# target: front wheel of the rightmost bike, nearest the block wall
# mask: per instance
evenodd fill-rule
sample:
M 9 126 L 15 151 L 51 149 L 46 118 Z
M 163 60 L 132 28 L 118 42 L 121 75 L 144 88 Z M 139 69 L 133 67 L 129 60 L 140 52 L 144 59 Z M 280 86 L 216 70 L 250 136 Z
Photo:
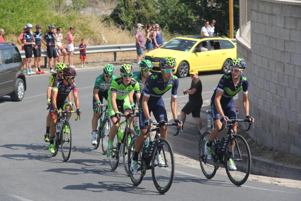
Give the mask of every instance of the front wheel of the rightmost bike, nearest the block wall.
M 236 165 L 236 170 L 230 170 L 227 165 L 228 147 L 231 146 L 229 141 L 225 150 L 225 168 L 230 181 L 235 185 L 244 184 L 250 174 L 251 170 L 251 152 L 247 141 L 240 135 L 234 135 L 233 140 L 235 145 L 233 147 L 234 158 L 232 159 Z

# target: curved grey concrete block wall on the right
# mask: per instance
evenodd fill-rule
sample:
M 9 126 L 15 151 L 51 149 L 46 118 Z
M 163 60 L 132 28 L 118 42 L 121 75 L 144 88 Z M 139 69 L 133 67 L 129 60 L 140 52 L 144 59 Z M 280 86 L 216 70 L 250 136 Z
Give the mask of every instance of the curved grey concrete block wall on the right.
M 250 6 L 251 40 L 236 36 L 237 57 L 247 62 L 250 115 L 256 119 L 249 134 L 301 157 L 301 2 L 252 0 Z M 244 114 L 242 93 L 238 98 Z

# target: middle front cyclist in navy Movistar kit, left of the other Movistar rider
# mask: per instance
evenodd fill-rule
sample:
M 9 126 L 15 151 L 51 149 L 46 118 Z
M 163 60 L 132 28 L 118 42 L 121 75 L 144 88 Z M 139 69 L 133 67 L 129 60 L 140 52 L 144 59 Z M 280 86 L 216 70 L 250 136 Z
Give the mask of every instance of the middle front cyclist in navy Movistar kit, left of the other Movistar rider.
M 146 133 L 147 128 L 150 127 L 151 116 L 150 113 L 153 112 L 153 115 L 157 122 L 166 121 L 167 114 L 165 105 L 162 99 L 162 96 L 166 91 L 171 91 L 171 111 L 172 116 L 175 120 L 175 123 L 178 123 L 178 127 L 182 125 L 181 120 L 178 119 L 177 115 L 177 90 L 179 85 L 179 79 L 173 73 L 175 72 L 175 60 L 171 57 L 163 57 L 160 59 L 159 67 L 160 73 L 153 73 L 146 80 L 146 83 L 142 89 L 141 98 L 139 100 L 139 127 L 140 134 L 136 140 L 135 152 L 131 160 L 131 171 L 132 174 L 137 174 L 137 161 L 138 154 L 142 145 L 148 135 L 144 136 L 143 133 Z M 166 139 L 167 137 L 167 127 L 160 132 L 161 137 Z M 159 163 L 163 163 L 162 158 L 159 154 Z

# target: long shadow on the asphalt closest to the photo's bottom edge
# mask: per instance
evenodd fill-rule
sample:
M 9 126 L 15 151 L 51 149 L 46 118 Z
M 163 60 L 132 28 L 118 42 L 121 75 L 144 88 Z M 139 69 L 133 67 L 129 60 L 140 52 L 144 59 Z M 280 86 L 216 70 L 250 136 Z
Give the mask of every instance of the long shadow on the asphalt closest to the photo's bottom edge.
M 163 195 L 157 191 L 146 190 L 146 188 L 142 188 L 133 184 L 125 183 L 125 182 L 114 182 L 114 181 L 102 181 L 98 182 L 98 184 L 92 183 L 84 183 L 78 185 L 69 185 L 64 187 L 63 189 L 67 190 L 86 190 L 91 192 L 126 192 L 140 195 Z M 118 195 L 118 194 L 117 194 Z

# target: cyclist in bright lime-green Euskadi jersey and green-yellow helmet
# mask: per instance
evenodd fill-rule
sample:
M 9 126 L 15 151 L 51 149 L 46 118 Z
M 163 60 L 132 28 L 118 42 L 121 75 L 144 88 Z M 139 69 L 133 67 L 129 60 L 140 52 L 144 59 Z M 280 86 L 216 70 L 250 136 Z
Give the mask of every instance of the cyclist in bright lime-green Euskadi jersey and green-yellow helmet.
M 109 145 L 107 149 L 107 158 L 113 158 L 113 140 L 116 135 L 116 130 L 119 124 L 120 111 L 127 115 L 132 113 L 131 103 L 129 101 L 129 93 L 134 90 L 137 100 L 140 99 L 140 88 L 136 80 L 132 78 L 133 67 L 129 64 L 122 64 L 120 68 L 121 77 L 116 77 L 111 84 L 111 88 L 108 92 L 108 110 L 109 116 L 112 121 L 112 127 L 110 129 Z M 118 110 L 120 106 L 120 111 Z

